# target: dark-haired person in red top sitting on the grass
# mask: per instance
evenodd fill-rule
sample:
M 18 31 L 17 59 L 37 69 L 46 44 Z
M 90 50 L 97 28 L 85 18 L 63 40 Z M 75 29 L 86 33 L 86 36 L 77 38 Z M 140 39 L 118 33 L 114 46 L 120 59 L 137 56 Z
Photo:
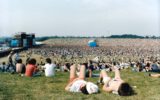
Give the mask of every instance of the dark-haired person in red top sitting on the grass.
M 32 77 L 32 76 L 39 76 L 39 75 L 40 74 L 38 73 L 38 69 L 36 67 L 36 59 L 31 58 L 28 61 L 28 64 L 26 66 L 25 76 Z

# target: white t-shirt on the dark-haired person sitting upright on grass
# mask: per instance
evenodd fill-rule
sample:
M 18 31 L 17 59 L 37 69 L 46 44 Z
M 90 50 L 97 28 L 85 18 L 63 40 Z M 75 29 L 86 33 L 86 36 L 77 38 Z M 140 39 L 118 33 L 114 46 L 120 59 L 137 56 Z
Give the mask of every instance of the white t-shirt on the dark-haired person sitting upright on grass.
M 48 64 L 47 63 L 43 67 L 45 68 L 45 76 L 48 76 L 48 77 L 54 76 L 54 74 L 55 74 L 55 67 L 56 67 L 55 64 Z

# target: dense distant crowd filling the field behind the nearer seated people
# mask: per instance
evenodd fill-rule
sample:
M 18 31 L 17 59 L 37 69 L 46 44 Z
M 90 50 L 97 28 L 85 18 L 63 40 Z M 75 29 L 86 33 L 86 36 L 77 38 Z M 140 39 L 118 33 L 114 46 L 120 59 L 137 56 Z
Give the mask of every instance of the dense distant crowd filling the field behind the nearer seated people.
M 84 40 L 86 41 L 86 40 Z M 48 44 L 41 48 L 30 49 L 28 52 L 41 55 L 42 57 L 53 57 L 56 62 L 82 63 L 99 57 L 100 62 L 141 62 L 144 60 L 160 61 L 160 43 L 158 40 L 129 40 L 129 39 L 108 39 L 97 40 L 99 47 L 90 48 L 84 43 L 75 40 L 65 41 L 54 45 Z M 66 44 L 66 45 L 64 45 Z

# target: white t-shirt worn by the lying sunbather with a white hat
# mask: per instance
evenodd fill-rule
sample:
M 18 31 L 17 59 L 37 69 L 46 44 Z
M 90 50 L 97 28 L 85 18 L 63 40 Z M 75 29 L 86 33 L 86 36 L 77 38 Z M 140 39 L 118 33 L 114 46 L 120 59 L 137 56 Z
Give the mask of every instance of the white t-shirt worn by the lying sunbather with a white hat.
M 80 87 L 82 84 L 86 84 L 87 82 L 84 80 L 77 80 L 75 81 L 72 86 L 70 87 L 70 92 L 81 92 Z

